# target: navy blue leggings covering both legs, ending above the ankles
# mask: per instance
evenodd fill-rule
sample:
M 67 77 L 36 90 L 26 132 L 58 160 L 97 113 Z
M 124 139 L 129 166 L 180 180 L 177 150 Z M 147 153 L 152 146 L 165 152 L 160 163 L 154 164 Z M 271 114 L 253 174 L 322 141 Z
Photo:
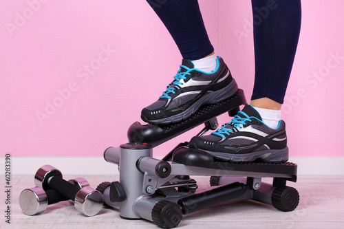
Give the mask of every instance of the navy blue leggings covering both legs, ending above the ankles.
M 251 0 L 255 45 L 252 100 L 283 103 L 301 28 L 300 0 Z M 169 30 L 183 58 L 214 51 L 197 0 L 147 0 Z

